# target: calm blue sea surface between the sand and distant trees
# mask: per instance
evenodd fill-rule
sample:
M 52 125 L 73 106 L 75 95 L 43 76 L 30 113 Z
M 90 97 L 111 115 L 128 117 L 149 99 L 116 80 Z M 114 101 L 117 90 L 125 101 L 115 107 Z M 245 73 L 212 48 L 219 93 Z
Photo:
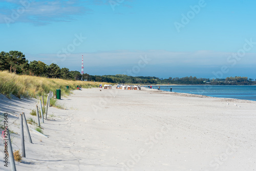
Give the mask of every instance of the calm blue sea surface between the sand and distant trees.
M 256 86 L 160 86 L 160 90 L 256 101 Z M 152 86 L 158 89 L 158 86 Z

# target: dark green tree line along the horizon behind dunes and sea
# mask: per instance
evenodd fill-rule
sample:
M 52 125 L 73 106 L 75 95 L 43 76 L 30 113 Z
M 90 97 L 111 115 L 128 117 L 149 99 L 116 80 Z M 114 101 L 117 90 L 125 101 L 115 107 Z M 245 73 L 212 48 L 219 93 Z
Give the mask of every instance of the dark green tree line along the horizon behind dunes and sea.
M 111 83 L 131 83 L 131 84 L 213 84 L 213 85 L 252 85 L 256 84 L 247 77 L 227 77 L 226 79 L 216 78 L 197 78 L 197 77 L 169 77 L 166 79 L 150 76 L 127 76 L 127 75 L 89 75 L 81 74 L 78 71 L 69 71 L 68 68 L 60 68 L 57 64 L 51 63 L 46 65 L 42 61 L 28 61 L 25 55 L 19 51 L 1 52 L 0 53 L 0 70 L 9 70 L 15 74 L 26 74 L 32 76 L 74 79 L 74 80 L 88 80 L 98 82 Z

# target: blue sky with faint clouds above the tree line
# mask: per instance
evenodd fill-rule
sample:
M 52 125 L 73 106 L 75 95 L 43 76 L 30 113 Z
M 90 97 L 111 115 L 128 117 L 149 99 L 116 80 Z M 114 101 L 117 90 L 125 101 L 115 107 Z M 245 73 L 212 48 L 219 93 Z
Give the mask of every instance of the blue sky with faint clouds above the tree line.
M 83 55 L 91 75 L 256 79 L 255 6 L 253 0 L 0 0 L 0 51 L 77 71 Z

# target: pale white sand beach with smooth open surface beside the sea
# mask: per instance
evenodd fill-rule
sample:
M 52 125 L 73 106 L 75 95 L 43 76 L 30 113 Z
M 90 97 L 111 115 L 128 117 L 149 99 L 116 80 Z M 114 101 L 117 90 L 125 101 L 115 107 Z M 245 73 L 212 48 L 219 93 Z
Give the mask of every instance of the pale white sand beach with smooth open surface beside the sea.
M 50 120 L 41 123 L 48 138 L 30 132 L 31 144 L 25 131 L 26 158 L 15 162 L 17 170 L 256 168 L 256 101 L 113 87 L 75 90 L 58 102 L 65 110 L 49 108 Z M 24 112 L 36 120 L 29 114 L 36 103 L 0 96 L 0 112 L 17 133 L 14 150 L 17 117 Z M 0 168 L 10 170 L 1 154 Z

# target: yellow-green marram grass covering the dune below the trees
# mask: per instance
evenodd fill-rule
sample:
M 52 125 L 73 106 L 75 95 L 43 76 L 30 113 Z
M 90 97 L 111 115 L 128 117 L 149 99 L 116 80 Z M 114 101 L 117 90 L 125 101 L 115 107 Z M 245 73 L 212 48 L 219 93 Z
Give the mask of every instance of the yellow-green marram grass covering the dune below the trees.
M 11 95 L 17 97 L 34 97 L 47 95 L 49 91 L 55 92 L 61 90 L 61 95 L 69 94 L 69 90 L 76 89 L 76 86 L 82 88 L 98 87 L 97 82 L 91 81 L 73 81 L 56 78 L 45 78 L 28 75 L 17 75 L 8 71 L 0 71 L 0 94 L 8 97 Z

